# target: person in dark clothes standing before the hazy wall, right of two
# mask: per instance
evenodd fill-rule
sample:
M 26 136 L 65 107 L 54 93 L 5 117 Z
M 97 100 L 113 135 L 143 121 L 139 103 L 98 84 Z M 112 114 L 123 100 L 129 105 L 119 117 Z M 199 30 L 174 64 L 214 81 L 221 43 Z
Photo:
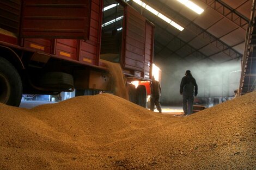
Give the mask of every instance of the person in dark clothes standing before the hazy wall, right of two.
M 197 96 L 197 92 L 198 86 L 196 79 L 194 79 L 191 72 L 187 70 L 180 83 L 180 95 L 182 95 L 183 111 L 186 116 L 191 115 L 193 112 L 194 96 Z

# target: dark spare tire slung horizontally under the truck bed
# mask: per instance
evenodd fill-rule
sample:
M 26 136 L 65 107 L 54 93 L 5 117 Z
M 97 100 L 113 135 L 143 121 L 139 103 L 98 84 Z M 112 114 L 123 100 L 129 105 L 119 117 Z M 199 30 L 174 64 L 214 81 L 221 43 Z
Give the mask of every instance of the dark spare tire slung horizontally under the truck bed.
M 74 87 L 74 79 L 71 74 L 63 72 L 47 72 L 40 76 L 39 85 L 47 88 L 66 89 Z

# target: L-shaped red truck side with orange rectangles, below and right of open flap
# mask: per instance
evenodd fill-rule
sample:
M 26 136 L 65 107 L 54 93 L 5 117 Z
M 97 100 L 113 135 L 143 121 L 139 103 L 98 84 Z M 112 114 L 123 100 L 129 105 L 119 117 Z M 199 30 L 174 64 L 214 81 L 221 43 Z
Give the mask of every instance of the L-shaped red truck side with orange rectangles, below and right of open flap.
M 92 0 L 89 40 L 77 39 L 24 39 L 24 47 L 35 51 L 57 55 L 63 59 L 73 59 L 89 65 L 99 65 L 101 8 L 100 0 Z M 54 42 L 54 43 L 52 43 Z

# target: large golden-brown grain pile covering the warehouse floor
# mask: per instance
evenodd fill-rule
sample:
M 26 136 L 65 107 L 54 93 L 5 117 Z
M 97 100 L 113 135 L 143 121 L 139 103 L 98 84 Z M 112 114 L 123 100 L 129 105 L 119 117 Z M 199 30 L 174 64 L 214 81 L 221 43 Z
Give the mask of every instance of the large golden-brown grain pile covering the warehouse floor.
M 256 92 L 187 117 L 109 95 L 0 104 L 0 169 L 256 169 Z

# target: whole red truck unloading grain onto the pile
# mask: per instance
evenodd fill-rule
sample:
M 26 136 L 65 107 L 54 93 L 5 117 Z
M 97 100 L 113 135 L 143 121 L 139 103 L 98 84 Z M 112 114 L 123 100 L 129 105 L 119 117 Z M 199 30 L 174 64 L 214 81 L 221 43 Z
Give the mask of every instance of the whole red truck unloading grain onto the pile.
M 146 106 L 149 86 L 130 83 L 152 78 L 154 26 L 126 2 L 106 2 L 1 1 L 0 102 L 19 106 L 23 93 L 109 91 L 104 59 L 120 63 L 130 100 Z

